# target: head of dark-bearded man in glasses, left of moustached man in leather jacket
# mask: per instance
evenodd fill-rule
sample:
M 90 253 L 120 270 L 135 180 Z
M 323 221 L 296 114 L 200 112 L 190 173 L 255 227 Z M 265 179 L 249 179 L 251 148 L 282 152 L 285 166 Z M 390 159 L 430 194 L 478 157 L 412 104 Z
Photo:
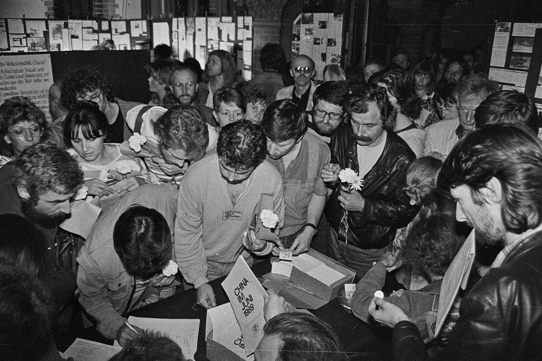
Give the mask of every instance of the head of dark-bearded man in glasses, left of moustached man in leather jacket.
M 328 81 L 321 84 L 312 97 L 312 122 L 307 132 L 314 132 L 329 143 L 343 120 L 343 106 L 350 89 L 344 82 Z

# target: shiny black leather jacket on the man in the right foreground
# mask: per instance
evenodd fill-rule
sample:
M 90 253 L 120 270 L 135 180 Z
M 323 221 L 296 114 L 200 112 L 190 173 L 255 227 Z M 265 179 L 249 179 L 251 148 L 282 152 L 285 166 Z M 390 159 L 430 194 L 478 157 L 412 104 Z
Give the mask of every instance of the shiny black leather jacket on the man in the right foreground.
M 539 360 L 542 355 L 542 232 L 491 268 L 461 301 L 448 346 L 435 360 Z M 393 359 L 429 359 L 416 327 L 393 328 Z

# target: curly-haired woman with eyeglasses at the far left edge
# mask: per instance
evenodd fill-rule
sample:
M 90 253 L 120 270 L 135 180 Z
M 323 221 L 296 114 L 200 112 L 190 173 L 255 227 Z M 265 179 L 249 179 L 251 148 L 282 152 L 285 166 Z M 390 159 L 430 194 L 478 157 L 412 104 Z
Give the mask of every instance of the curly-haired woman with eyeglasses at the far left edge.
M 45 114 L 27 97 L 14 96 L 0 106 L 0 166 L 24 149 L 54 138 Z

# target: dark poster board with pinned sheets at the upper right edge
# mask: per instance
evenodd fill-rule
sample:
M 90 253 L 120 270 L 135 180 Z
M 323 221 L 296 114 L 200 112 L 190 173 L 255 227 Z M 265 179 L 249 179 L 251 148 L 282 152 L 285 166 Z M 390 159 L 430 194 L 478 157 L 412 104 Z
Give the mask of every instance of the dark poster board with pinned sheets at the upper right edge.
M 496 23 L 489 78 L 534 97 L 542 109 L 542 23 Z M 540 117 L 540 111 L 539 111 Z

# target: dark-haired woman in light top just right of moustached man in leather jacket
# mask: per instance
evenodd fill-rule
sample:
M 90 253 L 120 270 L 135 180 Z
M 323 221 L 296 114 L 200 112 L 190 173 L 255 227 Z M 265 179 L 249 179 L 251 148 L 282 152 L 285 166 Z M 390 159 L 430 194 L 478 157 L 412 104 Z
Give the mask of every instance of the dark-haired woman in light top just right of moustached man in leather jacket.
M 420 116 L 421 101 L 412 94 L 412 80 L 403 69 L 386 71 L 378 80 L 378 86 L 384 87 L 388 99 L 395 109 L 396 118 L 393 132 L 401 136 L 416 156 L 423 154 L 425 131 L 419 129 L 412 119 Z

